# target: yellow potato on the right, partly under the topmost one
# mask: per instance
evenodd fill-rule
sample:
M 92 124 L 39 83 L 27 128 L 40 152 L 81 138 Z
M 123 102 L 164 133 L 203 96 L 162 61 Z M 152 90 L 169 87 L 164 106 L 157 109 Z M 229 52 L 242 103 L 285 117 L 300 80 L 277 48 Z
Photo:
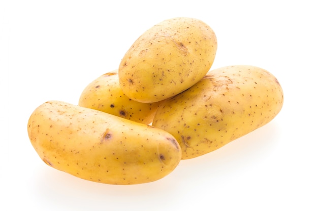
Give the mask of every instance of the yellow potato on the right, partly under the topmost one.
M 260 128 L 282 104 L 282 88 L 270 72 L 227 66 L 211 70 L 193 87 L 162 102 L 152 125 L 172 134 L 182 159 L 189 159 Z

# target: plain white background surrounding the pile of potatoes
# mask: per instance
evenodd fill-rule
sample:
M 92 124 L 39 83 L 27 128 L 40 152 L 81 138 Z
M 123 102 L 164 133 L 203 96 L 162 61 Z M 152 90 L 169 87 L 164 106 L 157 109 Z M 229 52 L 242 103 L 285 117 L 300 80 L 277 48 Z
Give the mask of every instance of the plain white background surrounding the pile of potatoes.
M 48 100 L 77 104 L 139 35 L 178 16 L 213 28 L 212 69 L 248 64 L 273 73 L 281 112 L 148 184 L 93 183 L 47 166 L 28 140 L 31 112 Z M 309 0 L 1 1 L 0 209 L 318 210 L 317 20 Z

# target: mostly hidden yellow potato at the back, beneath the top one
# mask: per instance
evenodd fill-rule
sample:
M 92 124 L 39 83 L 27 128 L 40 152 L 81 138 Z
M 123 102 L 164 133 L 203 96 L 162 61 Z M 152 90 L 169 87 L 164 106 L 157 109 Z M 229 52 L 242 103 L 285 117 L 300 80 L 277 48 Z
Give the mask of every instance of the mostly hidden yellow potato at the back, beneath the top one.
M 120 88 L 118 70 L 114 70 L 90 82 L 83 90 L 78 105 L 150 124 L 159 102 L 141 103 L 128 98 Z

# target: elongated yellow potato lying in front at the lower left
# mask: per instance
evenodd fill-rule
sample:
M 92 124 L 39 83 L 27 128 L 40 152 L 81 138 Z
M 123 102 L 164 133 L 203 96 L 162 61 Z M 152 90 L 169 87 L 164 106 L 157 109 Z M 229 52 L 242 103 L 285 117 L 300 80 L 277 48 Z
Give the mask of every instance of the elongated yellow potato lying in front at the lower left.
M 181 159 L 180 146 L 168 132 L 66 102 L 49 101 L 36 108 L 27 132 L 46 164 L 93 182 L 156 181 Z

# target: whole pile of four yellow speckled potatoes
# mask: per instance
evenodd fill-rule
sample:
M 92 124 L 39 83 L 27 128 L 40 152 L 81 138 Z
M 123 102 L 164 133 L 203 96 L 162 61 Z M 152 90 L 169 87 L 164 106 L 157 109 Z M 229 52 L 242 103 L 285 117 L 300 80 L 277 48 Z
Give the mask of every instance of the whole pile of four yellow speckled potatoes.
M 117 69 L 85 87 L 78 105 L 37 107 L 27 124 L 31 144 L 46 164 L 76 177 L 140 184 L 271 121 L 283 104 L 275 76 L 250 65 L 211 70 L 216 49 L 201 20 L 154 25 Z

